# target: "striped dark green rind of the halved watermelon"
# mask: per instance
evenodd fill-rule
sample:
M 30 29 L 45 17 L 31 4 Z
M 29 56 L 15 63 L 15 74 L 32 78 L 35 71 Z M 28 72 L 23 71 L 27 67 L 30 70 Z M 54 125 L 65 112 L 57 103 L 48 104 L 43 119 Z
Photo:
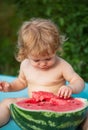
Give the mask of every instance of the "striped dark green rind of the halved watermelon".
M 28 110 L 11 104 L 11 115 L 22 130 L 75 130 L 84 120 L 88 109 L 87 99 L 80 98 L 84 106 L 68 112 Z

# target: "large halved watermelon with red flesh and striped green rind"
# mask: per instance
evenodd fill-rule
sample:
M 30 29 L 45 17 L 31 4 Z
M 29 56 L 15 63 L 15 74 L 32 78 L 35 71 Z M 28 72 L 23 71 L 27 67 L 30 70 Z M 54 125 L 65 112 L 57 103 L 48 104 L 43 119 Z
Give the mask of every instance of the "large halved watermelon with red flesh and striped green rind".
M 88 101 L 58 98 L 49 92 L 33 92 L 32 98 L 10 105 L 22 130 L 76 130 L 86 117 Z

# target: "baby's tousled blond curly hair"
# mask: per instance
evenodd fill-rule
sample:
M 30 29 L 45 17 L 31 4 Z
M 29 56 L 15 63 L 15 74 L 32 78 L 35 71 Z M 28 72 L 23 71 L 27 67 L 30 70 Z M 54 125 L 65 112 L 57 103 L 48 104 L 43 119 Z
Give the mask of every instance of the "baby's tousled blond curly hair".
M 18 32 L 18 53 L 22 61 L 28 56 L 45 56 L 55 53 L 61 46 L 57 26 L 48 19 L 36 18 L 24 22 Z

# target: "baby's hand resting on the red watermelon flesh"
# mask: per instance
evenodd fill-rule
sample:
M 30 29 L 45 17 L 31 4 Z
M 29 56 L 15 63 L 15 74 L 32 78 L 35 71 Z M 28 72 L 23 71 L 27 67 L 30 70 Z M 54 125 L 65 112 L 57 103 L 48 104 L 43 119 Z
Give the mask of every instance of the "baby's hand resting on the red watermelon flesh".
M 72 94 L 72 88 L 69 86 L 62 86 L 58 91 L 58 96 L 61 98 L 69 98 Z

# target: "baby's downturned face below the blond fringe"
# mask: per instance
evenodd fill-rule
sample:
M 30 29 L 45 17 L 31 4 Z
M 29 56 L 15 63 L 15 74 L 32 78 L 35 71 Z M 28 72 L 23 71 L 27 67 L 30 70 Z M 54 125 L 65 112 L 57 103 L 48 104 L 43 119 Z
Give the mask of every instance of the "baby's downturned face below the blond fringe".
M 31 65 L 34 67 L 37 67 L 39 69 L 49 69 L 56 63 L 56 55 L 54 54 L 54 55 L 44 56 L 44 57 L 30 56 L 29 60 Z

